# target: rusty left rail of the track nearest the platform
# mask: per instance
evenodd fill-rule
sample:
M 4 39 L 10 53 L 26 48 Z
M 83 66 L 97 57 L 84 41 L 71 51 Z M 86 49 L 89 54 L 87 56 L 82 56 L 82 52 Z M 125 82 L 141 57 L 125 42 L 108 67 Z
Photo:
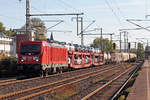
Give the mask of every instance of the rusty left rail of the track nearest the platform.
M 99 92 L 100 90 L 104 89 L 105 87 L 107 87 L 108 85 L 110 85 L 112 82 L 114 82 L 115 80 L 117 80 L 118 78 L 120 78 L 122 75 L 124 75 L 126 72 L 128 72 L 131 68 L 127 69 L 125 72 L 121 73 L 120 75 L 118 75 L 117 77 L 115 77 L 114 79 L 110 80 L 109 82 L 105 83 L 103 86 L 97 88 L 95 91 L 89 93 L 87 96 L 83 97 L 81 100 L 88 100 L 91 96 L 95 95 L 97 92 Z

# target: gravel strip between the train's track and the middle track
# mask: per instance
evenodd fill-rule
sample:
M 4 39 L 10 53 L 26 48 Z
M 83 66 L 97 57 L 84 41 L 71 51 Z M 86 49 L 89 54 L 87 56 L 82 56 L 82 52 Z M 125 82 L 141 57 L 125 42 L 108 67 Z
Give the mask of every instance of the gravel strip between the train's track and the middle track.
M 93 72 L 96 70 L 103 70 L 104 68 L 106 68 L 106 67 L 109 68 L 111 66 L 112 65 L 92 67 L 92 68 L 81 69 L 81 70 L 77 70 L 77 71 L 65 72 L 63 74 L 54 74 L 54 75 L 50 75 L 49 77 L 46 77 L 46 78 L 36 78 L 36 79 L 30 80 L 30 81 L 2 85 L 2 86 L 0 86 L 0 90 L 1 90 L 0 95 L 4 95 L 4 94 L 15 92 L 15 91 L 20 91 L 20 90 L 27 89 L 27 88 L 32 88 L 35 86 L 40 86 L 40 85 L 43 85 L 46 83 L 51 83 L 51 82 L 58 81 L 58 80 L 61 80 L 64 78 L 69 78 L 69 77 L 73 77 L 76 75 Z M 117 66 L 117 65 L 115 65 L 115 66 Z

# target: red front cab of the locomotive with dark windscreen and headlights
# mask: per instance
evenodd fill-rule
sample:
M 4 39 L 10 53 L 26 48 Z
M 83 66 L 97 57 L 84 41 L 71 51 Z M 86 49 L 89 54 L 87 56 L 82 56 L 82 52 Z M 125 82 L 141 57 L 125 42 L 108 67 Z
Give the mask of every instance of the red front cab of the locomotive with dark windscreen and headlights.
M 17 69 L 24 74 L 37 72 L 41 69 L 42 42 L 21 42 L 18 49 Z M 34 73 L 35 73 L 34 72 Z

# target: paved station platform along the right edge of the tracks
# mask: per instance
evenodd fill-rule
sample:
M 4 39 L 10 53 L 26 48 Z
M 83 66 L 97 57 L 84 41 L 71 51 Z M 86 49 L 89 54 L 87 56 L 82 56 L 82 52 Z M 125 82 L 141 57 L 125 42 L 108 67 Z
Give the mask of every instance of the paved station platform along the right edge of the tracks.
M 145 60 L 127 100 L 150 100 L 150 60 Z

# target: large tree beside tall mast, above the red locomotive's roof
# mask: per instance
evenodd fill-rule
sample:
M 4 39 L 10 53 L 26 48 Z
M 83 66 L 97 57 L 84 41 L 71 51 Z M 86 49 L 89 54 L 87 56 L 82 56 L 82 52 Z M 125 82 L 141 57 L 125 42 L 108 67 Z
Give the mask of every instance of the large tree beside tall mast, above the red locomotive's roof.
M 25 26 L 21 29 L 25 29 Z M 31 29 L 35 31 L 35 40 L 46 40 L 46 26 L 40 18 L 31 19 Z

